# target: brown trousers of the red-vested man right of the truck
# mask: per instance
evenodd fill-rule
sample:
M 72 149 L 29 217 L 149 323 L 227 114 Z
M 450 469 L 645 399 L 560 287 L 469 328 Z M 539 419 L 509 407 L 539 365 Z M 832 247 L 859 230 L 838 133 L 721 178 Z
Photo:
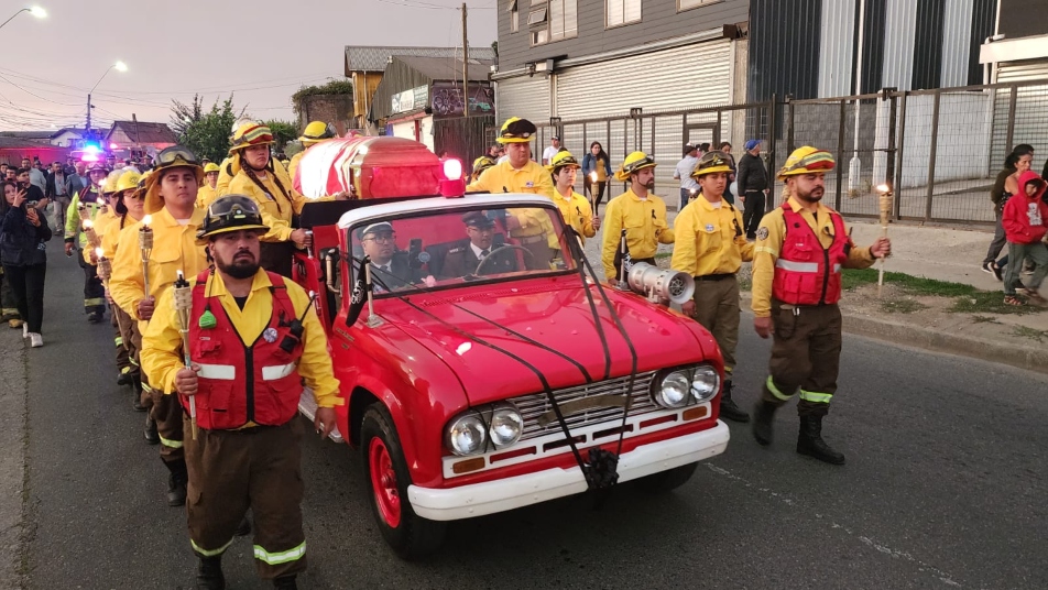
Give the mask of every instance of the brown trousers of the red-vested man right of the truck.
M 825 416 L 837 393 L 841 363 L 841 309 L 837 305 L 793 307 L 772 302 L 771 373 L 762 398 L 785 404 L 797 391 L 797 414 Z

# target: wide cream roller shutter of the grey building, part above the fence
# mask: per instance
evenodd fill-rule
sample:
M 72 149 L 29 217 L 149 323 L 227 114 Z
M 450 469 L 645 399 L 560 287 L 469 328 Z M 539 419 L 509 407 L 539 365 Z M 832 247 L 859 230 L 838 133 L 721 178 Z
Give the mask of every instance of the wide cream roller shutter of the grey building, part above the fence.
M 557 74 L 556 114 L 570 121 L 627 114 L 632 107 L 651 112 L 727 105 L 731 66 L 731 42 L 719 40 L 567 68 Z

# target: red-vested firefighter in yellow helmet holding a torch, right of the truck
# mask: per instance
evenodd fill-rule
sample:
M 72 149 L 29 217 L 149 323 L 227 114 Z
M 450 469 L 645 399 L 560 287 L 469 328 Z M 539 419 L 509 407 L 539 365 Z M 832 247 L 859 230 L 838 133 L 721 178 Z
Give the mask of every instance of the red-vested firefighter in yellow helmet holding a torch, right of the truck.
M 841 269 L 865 269 L 892 253 L 887 238 L 856 248 L 841 215 L 820 201 L 833 156 L 811 146 L 789 155 L 778 178 L 782 207 L 764 216 L 753 255 L 753 327 L 773 337 L 769 374 L 754 409 L 753 436 L 772 444 L 775 411 L 800 392 L 797 452 L 843 465 L 822 440 L 841 354 Z M 787 240 L 786 238 L 789 237 Z

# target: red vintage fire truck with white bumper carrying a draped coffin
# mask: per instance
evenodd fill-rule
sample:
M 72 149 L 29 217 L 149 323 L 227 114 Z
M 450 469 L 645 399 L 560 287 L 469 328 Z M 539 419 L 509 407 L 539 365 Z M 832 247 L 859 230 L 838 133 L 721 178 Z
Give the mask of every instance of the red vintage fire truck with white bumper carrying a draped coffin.
M 672 489 L 723 452 L 720 351 L 652 303 L 690 277 L 637 264 L 630 287 L 602 285 L 548 198 L 463 195 L 461 165 L 408 140 L 331 140 L 298 171 L 307 196 L 356 192 L 306 205 L 314 248 L 294 274 L 321 294 L 346 398 L 334 437 L 361 452 L 401 556 L 449 521 L 630 480 Z

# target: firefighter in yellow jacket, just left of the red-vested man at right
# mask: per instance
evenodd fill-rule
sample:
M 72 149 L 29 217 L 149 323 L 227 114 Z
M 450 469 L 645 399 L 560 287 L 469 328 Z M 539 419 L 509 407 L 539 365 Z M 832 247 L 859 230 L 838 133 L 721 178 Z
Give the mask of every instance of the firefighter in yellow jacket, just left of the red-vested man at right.
M 674 255 L 670 267 L 695 277 L 690 302 L 680 306 L 685 315 L 710 330 L 724 358 L 724 389 L 720 415 L 750 422 L 750 415 L 732 401 L 732 370 L 739 345 L 739 281 L 743 262 L 753 260 L 753 244 L 742 230 L 742 212 L 724 200 L 732 170 L 722 152 L 708 152 L 696 162 L 691 178 L 699 194 L 674 219 Z

